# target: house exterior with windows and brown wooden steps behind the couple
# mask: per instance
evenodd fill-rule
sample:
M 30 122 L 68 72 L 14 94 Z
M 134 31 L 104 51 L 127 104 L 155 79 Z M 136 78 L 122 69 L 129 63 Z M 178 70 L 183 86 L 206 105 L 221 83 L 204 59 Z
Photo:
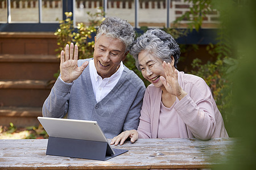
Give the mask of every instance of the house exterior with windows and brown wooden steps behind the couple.
M 126 19 L 135 29 L 171 28 L 176 18 L 192 4 L 184 0 L 0 0 L 0 125 L 38 125 L 42 105 L 59 70 L 56 58 L 57 37 L 53 35 L 64 12 L 73 12 L 74 27 L 88 25 L 88 13 Z M 200 52 L 189 52 L 184 65 L 195 57 L 204 57 L 205 47 L 214 44 L 218 11 L 205 16 L 199 32 L 193 31 L 180 44 L 198 44 Z M 182 20 L 180 28 L 187 27 Z M 214 36 L 213 36 L 214 37 Z M 182 68 L 182 67 L 181 67 Z

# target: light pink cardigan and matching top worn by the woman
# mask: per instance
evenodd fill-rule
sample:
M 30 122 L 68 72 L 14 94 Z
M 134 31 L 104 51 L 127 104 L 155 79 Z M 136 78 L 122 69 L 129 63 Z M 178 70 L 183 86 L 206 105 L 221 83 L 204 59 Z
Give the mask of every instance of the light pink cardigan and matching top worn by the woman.
M 176 98 L 169 111 L 170 118 L 163 118 L 160 113 L 161 88 L 156 88 L 153 84 L 147 87 L 138 126 L 139 138 L 196 137 L 208 140 L 228 137 L 221 113 L 205 81 L 199 76 L 179 71 L 178 81 L 188 95 L 180 101 Z M 176 117 L 173 117 L 174 115 Z M 175 127 L 177 128 L 172 131 Z

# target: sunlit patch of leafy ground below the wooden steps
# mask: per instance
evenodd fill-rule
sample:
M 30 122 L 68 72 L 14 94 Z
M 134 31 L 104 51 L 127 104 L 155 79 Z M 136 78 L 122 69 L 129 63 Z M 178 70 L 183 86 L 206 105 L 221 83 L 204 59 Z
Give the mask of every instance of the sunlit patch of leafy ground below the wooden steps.
M 47 139 L 48 134 L 43 129 L 42 125 L 18 127 L 12 123 L 10 126 L 0 125 L 0 139 Z

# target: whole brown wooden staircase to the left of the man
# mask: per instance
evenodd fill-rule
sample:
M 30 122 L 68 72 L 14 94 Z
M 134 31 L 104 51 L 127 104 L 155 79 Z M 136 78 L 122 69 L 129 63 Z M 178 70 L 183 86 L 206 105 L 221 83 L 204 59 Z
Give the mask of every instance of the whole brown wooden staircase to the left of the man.
M 56 36 L 0 32 L 0 126 L 37 126 L 59 70 Z

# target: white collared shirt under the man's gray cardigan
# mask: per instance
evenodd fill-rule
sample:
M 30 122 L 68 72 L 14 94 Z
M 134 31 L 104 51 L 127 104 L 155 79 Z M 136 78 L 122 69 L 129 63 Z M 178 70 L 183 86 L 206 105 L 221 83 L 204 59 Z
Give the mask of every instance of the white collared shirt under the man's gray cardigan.
M 112 76 L 102 79 L 97 73 L 94 59 L 89 61 L 90 79 L 92 80 L 93 92 L 97 103 L 114 88 L 123 73 L 123 69 L 123 62 L 121 61 L 119 69 Z

